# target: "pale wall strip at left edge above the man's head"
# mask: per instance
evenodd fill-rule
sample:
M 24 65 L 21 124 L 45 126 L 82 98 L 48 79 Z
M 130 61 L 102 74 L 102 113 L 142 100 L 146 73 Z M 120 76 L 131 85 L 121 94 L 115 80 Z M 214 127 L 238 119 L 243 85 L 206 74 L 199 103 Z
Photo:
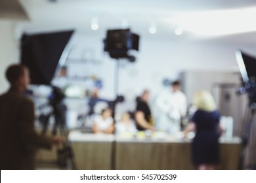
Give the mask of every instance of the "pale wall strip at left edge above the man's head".
M 11 63 L 18 62 L 18 44 L 13 28 L 12 22 L 0 20 L 0 93 L 9 88 L 5 70 Z

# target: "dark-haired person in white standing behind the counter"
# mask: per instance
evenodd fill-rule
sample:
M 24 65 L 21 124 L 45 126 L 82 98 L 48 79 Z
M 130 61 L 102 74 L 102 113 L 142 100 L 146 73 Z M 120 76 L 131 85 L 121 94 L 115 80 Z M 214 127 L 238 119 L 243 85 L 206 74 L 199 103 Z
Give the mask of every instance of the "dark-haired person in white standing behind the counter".
M 171 84 L 171 93 L 165 92 L 156 99 L 158 117 L 156 127 L 160 131 L 176 133 L 181 130 L 181 119 L 186 116 L 187 99 L 181 92 L 181 83 L 175 81 Z

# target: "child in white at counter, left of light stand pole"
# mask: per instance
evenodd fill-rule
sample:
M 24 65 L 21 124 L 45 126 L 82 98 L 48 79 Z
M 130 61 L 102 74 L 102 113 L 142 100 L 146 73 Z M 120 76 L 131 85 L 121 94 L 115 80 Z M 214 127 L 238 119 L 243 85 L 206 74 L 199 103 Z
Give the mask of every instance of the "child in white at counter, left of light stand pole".
M 100 115 L 95 115 L 93 118 L 93 133 L 106 133 L 114 132 L 114 120 L 112 118 L 112 110 L 104 108 Z

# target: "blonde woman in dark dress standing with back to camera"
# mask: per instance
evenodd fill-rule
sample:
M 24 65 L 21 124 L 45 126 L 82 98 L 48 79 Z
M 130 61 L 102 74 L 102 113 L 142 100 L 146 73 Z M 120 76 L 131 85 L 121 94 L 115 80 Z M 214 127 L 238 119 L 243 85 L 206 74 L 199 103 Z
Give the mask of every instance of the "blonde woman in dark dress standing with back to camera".
M 219 163 L 219 125 L 220 114 L 217 112 L 211 93 L 200 91 L 194 95 L 194 105 L 197 107 L 194 116 L 184 131 L 196 131 L 192 142 L 192 161 L 198 169 L 214 169 Z

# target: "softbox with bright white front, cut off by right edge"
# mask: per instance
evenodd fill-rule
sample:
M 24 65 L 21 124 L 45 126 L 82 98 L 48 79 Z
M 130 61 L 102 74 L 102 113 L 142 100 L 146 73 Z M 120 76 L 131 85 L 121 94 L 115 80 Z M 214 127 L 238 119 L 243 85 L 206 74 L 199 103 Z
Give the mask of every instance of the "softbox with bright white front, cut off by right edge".
M 250 78 L 256 79 L 256 58 L 239 50 L 236 52 L 236 59 L 243 81 L 246 83 Z

